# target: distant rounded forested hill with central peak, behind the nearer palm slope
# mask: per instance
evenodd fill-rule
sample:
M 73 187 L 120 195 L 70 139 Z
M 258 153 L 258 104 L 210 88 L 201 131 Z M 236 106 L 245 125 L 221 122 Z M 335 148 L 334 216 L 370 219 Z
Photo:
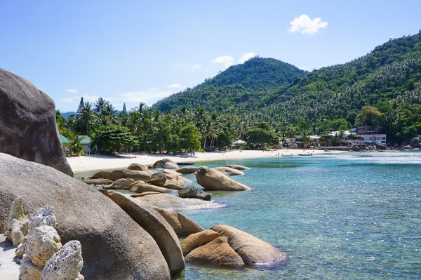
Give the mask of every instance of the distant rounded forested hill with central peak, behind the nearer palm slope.
M 203 107 L 208 111 L 234 112 L 239 107 L 258 109 L 274 100 L 273 93 L 307 74 L 306 71 L 274 58 L 250 58 L 232 65 L 194 88 L 175 93 L 156 102 L 152 109 Z

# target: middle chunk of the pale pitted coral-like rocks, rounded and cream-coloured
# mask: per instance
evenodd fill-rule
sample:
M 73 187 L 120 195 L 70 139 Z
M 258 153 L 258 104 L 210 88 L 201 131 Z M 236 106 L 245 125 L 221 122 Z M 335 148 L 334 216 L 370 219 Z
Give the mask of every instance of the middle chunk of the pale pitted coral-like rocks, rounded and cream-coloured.
M 54 227 L 41 225 L 36 227 L 25 244 L 26 255 L 32 263 L 44 267 L 47 261 L 62 248 L 60 236 Z

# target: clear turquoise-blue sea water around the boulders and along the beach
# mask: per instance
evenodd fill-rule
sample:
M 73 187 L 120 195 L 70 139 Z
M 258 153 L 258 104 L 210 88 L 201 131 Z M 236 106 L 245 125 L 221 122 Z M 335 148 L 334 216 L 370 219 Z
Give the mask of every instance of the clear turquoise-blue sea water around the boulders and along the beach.
M 289 255 L 281 266 L 187 264 L 173 279 L 421 279 L 421 152 L 273 156 L 241 164 L 250 191 L 180 213 L 204 229 L 231 225 Z M 195 182 L 194 175 L 186 178 Z

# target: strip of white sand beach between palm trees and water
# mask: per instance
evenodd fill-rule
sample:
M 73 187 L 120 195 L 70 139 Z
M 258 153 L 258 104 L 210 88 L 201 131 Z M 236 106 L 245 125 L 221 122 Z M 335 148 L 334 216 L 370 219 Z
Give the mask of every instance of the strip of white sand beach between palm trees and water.
M 312 154 L 326 154 L 323 150 L 309 150 L 305 152 L 311 152 Z M 340 153 L 342 151 L 331 151 Z M 143 164 L 149 166 L 154 164 L 155 161 L 160 159 L 168 158 L 175 162 L 183 161 L 215 161 L 222 159 L 260 159 L 267 157 L 281 156 L 282 154 L 294 154 L 298 155 L 304 153 L 302 149 L 274 149 L 269 151 L 250 151 L 250 150 L 234 150 L 230 152 L 195 152 L 194 156 L 187 155 L 175 155 L 175 154 L 145 154 L 145 153 L 134 153 L 134 154 L 121 154 L 121 157 L 112 156 L 101 156 L 101 155 L 90 155 L 90 156 L 68 156 L 67 161 L 72 167 L 73 172 L 83 171 L 99 171 L 99 170 L 110 170 L 116 168 L 126 168 L 130 164 Z

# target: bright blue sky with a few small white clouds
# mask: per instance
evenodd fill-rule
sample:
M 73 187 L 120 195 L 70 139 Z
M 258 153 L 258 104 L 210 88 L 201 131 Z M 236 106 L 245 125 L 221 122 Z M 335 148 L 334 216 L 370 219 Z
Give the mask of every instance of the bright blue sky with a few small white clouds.
M 61 112 L 152 105 L 259 55 L 312 71 L 420 32 L 421 1 L 0 1 L 0 68 Z

